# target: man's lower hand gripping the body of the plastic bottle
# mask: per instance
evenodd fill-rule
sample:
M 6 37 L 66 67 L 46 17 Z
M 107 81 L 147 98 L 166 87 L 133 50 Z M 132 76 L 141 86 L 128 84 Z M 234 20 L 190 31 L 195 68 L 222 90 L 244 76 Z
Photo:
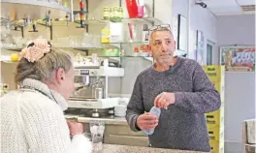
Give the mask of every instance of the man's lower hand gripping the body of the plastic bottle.
M 155 115 L 145 112 L 137 118 L 136 123 L 141 130 L 150 130 L 158 125 L 158 119 Z

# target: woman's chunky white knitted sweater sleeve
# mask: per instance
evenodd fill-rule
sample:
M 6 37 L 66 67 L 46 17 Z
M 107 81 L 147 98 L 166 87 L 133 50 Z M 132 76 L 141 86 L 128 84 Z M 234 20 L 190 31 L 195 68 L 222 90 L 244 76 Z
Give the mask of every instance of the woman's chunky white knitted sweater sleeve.
M 22 105 L 21 116 L 23 118 L 25 137 L 32 153 L 81 153 L 91 148 L 88 138 L 78 135 L 71 141 L 69 128 L 62 110 L 56 104 L 41 106 Z M 52 102 L 51 102 L 52 103 Z

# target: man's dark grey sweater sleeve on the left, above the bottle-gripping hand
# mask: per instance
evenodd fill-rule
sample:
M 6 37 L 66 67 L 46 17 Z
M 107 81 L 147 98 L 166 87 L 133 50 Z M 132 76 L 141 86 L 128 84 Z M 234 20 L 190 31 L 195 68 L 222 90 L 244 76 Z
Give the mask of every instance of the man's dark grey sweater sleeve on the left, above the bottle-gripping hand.
M 126 120 L 134 132 L 141 131 L 137 126 L 137 118 L 144 113 L 142 85 L 140 75 L 137 77 L 130 102 L 126 110 Z

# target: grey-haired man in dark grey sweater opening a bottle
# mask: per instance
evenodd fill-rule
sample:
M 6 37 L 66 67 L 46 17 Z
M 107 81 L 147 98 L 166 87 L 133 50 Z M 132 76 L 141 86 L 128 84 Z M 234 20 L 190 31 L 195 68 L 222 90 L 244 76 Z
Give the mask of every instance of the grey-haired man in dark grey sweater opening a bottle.
M 204 113 L 220 107 L 220 96 L 201 65 L 174 57 L 171 30 L 157 26 L 150 35 L 155 64 L 136 79 L 126 119 L 135 132 L 154 129 L 152 147 L 209 151 Z M 159 119 L 148 113 L 161 107 Z M 144 112 L 146 111 L 146 112 Z

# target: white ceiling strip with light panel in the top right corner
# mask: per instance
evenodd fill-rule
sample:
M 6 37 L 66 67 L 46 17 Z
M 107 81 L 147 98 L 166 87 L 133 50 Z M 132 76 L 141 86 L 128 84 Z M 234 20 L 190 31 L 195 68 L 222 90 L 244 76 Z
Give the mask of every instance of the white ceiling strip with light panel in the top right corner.
M 255 0 L 200 0 L 214 15 L 255 15 Z

